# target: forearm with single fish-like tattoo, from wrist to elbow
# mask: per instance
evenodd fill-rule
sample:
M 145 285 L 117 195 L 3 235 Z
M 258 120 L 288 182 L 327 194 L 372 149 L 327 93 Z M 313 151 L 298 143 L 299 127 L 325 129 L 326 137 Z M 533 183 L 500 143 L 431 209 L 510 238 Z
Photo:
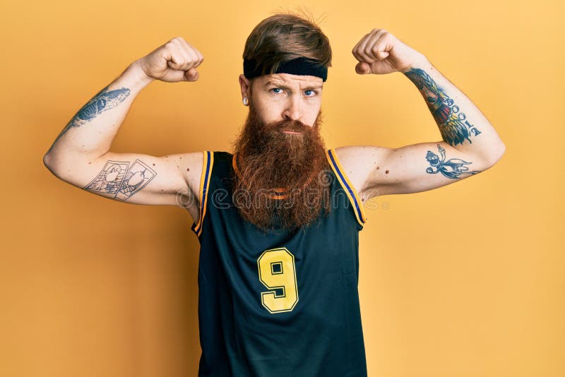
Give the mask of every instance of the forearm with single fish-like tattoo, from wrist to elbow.
M 67 124 L 45 154 L 47 162 L 95 158 L 107 152 L 131 102 L 152 81 L 138 61 L 91 98 Z

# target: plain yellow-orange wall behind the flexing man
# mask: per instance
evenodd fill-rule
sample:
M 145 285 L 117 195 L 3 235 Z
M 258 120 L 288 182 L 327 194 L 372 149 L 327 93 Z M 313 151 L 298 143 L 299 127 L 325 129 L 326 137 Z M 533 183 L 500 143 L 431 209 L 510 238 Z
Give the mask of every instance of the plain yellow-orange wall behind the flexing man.
M 196 376 L 188 213 L 85 193 L 42 156 L 90 97 L 176 36 L 205 56 L 200 80 L 145 88 L 113 150 L 229 150 L 247 111 L 237 83 L 245 39 L 279 6 L 299 5 L 323 17 L 333 48 L 328 147 L 441 138 L 407 78 L 355 73 L 352 47 L 386 28 L 463 90 L 507 148 L 482 174 L 367 210 L 359 292 L 369 376 L 565 376 L 561 4 L 3 2 L 0 376 Z

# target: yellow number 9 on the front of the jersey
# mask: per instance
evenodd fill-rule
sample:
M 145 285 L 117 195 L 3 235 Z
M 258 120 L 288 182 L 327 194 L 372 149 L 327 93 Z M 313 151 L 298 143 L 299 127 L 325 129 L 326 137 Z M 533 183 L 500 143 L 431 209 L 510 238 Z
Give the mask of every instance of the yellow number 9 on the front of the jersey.
M 270 313 L 292 311 L 298 302 L 295 256 L 286 248 L 263 251 L 257 259 L 259 280 L 269 292 L 261 292 L 261 302 Z

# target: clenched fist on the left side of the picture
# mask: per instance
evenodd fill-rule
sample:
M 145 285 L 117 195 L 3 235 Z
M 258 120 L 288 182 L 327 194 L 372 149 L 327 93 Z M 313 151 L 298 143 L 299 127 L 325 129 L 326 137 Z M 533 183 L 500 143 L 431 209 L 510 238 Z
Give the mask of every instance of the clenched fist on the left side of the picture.
M 204 57 L 182 37 L 175 37 L 150 54 L 139 59 L 139 65 L 149 78 L 177 83 L 198 80 L 199 66 Z

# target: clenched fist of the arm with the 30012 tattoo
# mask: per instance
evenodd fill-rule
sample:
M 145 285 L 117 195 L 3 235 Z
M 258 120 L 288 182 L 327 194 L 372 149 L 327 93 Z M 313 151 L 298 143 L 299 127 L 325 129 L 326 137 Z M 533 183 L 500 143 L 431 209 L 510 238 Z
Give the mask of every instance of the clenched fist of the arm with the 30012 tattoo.
M 355 71 L 360 75 L 406 72 L 425 59 L 420 52 L 384 29 L 373 29 L 355 44 L 352 54 L 359 61 Z

